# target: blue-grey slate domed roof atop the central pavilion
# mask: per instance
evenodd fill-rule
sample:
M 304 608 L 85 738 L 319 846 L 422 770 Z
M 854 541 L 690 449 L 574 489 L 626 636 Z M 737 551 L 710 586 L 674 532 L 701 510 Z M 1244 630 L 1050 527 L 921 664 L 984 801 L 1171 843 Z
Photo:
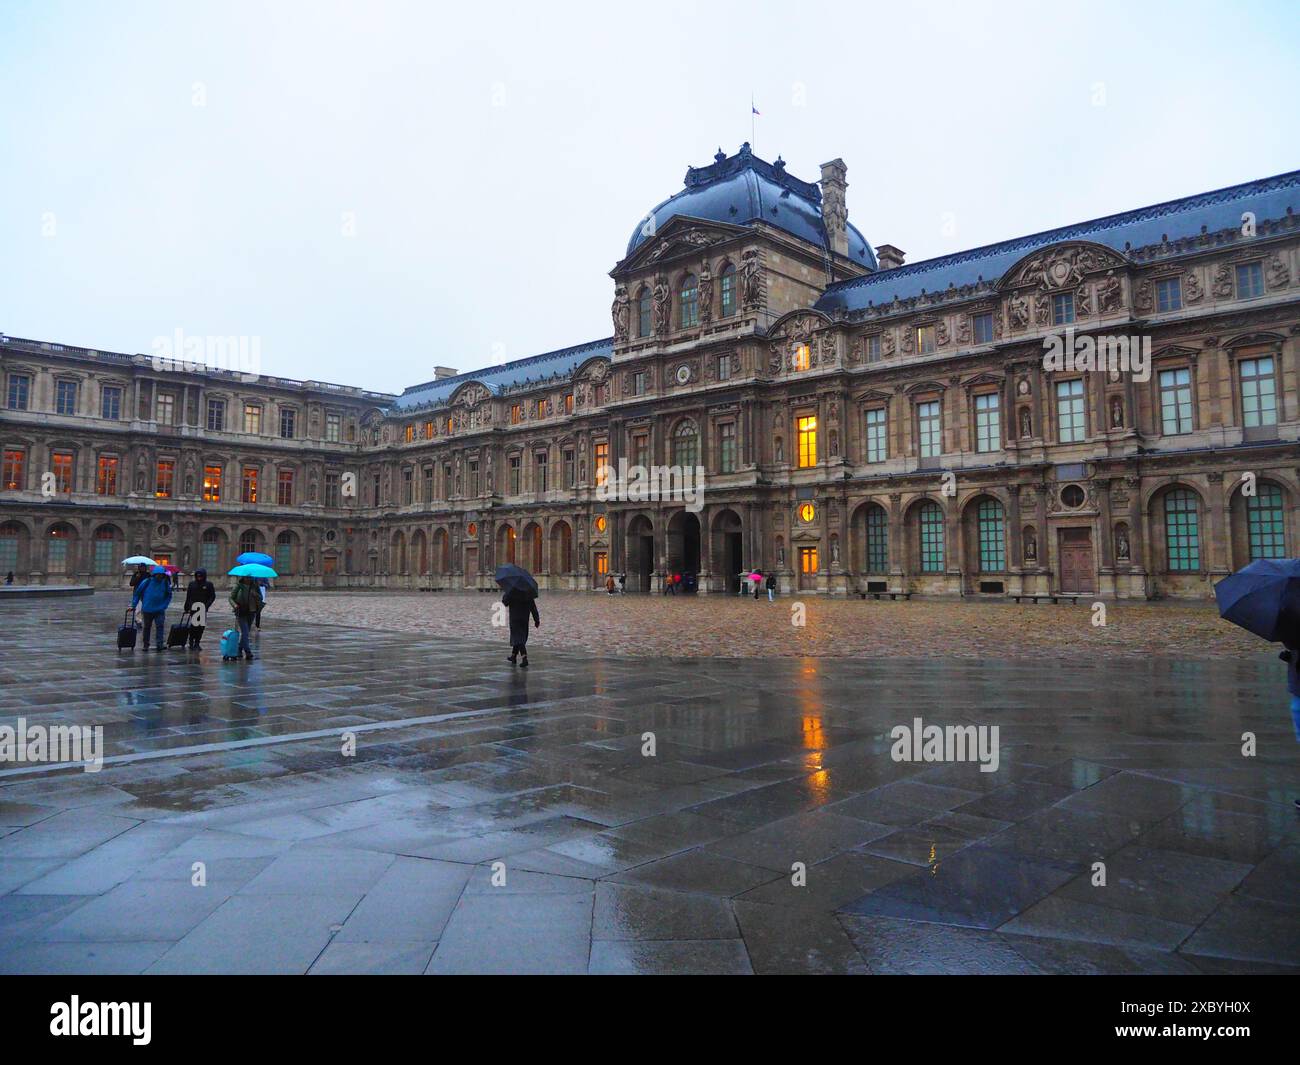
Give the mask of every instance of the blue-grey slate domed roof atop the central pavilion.
M 670 218 L 690 217 L 732 225 L 759 220 L 784 229 L 803 241 L 827 247 L 822 225 L 822 189 L 785 173 L 785 163 L 767 163 L 755 156 L 748 143 L 733 156 L 719 150 L 711 166 L 686 170 L 685 189 L 670 196 L 637 222 L 628 241 L 628 255 L 653 237 Z M 646 225 L 654 218 L 654 225 Z M 876 269 L 871 244 L 849 225 L 849 259 Z

